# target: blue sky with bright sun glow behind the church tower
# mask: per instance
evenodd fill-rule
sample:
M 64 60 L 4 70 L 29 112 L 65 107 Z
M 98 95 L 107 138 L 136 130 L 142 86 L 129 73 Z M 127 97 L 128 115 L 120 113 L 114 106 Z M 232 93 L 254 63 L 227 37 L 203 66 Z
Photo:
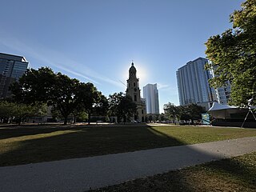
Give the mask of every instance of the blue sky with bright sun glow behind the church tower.
M 176 71 L 206 57 L 204 43 L 231 27 L 241 0 L 2 0 L 0 52 L 24 56 L 93 82 L 102 94 L 125 92 L 132 60 L 140 89 L 158 83 L 160 112 L 179 105 Z

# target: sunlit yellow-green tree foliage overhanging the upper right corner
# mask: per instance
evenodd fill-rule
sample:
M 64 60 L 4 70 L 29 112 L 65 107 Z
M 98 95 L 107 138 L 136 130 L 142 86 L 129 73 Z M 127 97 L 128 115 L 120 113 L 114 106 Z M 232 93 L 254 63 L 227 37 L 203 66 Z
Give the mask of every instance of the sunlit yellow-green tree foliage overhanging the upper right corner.
M 242 9 L 230 15 L 230 22 L 232 29 L 206 42 L 206 55 L 212 61 L 206 69 L 214 70 L 210 79 L 214 88 L 230 81 L 230 104 L 246 106 L 256 94 L 256 0 L 242 3 Z

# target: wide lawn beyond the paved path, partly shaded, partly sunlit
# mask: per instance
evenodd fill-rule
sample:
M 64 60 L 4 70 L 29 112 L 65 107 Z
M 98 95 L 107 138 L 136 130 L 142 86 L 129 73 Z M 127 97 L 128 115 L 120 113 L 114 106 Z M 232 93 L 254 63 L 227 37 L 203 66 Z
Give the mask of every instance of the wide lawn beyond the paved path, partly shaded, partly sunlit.
M 0 126 L 0 166 L 250 136 L 256 136 L 256 129 L 146 125 Z

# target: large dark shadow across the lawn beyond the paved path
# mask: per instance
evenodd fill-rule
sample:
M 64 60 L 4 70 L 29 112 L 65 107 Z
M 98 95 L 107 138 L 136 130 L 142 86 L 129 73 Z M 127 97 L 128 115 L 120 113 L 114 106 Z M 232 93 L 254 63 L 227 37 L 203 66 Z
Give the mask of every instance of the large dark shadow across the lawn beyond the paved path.
M 63 133 L 54 135 L 57 131 Z M 158 132 L 147 125 L 54 126 L 54 128 L 46 127 L 43 129 L 41 127 L 1 129 L 0 133 L 1 139 L 9 138 L 8 141 L 10 141 L 7 144 L 3 143 L 3 145 L 8 145 L 6 148 L 9 147 L 10 150 L 1 153 L 0 149 L 0 166 L 186 145 L 186 143 Z M 36 134 L 47 135 L 36 138 Z M 17 140 L 17 137 L 25 135 L 31 135 L 31 138 Z M 11 142 L 12 139 L 14 142 Z M 12 144 L 15 144 L 15 147 L 12 147 Z

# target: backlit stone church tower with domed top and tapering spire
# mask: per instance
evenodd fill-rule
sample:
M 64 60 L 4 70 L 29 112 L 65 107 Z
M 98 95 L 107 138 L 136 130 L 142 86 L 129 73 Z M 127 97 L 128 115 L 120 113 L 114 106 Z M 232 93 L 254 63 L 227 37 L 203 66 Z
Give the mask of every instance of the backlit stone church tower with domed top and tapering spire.
M 129 78 L 127 79 L 126 95 L 130 95 L 137 105 L 137 113 L 132 117 L 133 120 L 145 122 L 146 119 L 146 102 L 141 98 L 141 90 L 139 89 L 139 79 L 137 78 L 137 70 L 134 62 L 131 63 L 129 70 Z

